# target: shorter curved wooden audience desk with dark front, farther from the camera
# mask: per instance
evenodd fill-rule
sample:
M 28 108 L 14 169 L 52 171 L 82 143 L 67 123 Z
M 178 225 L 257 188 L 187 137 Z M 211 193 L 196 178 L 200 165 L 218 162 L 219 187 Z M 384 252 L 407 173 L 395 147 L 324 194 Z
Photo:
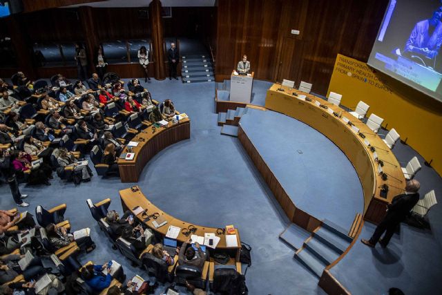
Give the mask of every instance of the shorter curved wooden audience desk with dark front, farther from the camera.
M 122 182 L 137 182 L 148 160 L 167 146 L 190 137 L 191 120 L 189 118 L 182 119 L 177 124 L 169 122 L 169 126 L 155 128 L 155 132 L 152 126 L 141 131 L 132 140 L 138 142 L 138 146 L 132 148 L 135 153 L 133 160 L 118 159 L 119 176 Z M 128 153 L 127 148 L 122 153 Z

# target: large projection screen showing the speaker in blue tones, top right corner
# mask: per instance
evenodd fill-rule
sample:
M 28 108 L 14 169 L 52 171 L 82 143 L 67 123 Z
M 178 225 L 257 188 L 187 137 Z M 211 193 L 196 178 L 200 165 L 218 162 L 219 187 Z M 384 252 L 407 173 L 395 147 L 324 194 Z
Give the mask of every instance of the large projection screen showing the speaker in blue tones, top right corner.
M 390 0 L 369 66 L 442 100 L 442 1 Z

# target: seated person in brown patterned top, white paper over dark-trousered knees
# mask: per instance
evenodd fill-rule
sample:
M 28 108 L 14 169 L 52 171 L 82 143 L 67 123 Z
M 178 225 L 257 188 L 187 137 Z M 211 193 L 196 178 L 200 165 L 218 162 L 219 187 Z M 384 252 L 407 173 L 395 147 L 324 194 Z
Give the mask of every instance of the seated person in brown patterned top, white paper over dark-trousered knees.
M 90 236 L 84 236 L 75 240 L 72 234 L 68 234 L 66 227 L 57 227 L 57 225 L 54 225 L 53 223 L 46 226 L 46 234 L 48 235 L 50 245 L 55 249 L 66 247 L 74 241 L 80 249 L 86 250 L 86 253 L 95 249 L 95 243 Z

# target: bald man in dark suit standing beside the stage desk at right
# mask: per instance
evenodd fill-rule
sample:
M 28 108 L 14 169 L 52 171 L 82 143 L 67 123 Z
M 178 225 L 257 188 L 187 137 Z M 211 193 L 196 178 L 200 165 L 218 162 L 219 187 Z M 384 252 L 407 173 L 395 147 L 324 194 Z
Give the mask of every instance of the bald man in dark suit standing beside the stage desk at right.
M 392 203 L 387 205 L 387 215 L 379 223 L 374 231 L 372 238 L 369 240 L 361 239 L 368 247 L 374 247 L 379 242 L 383 248 L 387 247 L 388 242 L 394 234 L 396 227 L 410 214 L 411 209 L 419 201 L 419 188 L 421 184 L 417 180 L 410 180 L 405 187 L 405 193 L 393 198 Z M 385 231 L 384 237 L 381 239 Z M 380 240 L 381 239 L 381 240 Z

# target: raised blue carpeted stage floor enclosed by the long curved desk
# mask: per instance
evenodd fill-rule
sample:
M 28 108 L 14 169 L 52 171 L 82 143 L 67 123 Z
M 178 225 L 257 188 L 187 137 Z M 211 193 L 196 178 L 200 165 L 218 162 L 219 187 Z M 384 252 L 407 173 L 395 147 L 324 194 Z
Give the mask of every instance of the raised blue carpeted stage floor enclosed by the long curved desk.
M 249 108 L 240 126 L 297 208 L 349 231 L 356 213 L 363 212 L 363 191 L 338 146 L 307 124 L 273 111 Z

